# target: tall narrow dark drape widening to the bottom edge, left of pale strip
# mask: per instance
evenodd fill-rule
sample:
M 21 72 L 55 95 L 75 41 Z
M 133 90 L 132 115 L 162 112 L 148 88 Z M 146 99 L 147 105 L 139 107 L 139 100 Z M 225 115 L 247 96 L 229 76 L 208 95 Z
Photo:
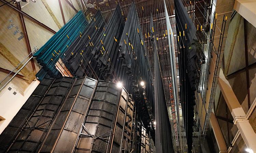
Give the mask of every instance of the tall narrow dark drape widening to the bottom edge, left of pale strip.
M 150 27 L 154 27 L 153 18 L 151 17 Z M 154 35 L 154 33 L 153 33 Z M 165 90 L 163 87 L 158 50 L 156 40 L 153 37 L 151 39 L 153 42 L 154 50 L 154 89 L 155 89 L 155 121 L 156 121 L 156 152 L 157 153 L 173 153 L 172 137 L 171 137 L 171 125 L 166 105 Z M 144 137 L 145 137 L 144 133 Z M 145 143 L 145 138 L 143 139 Z

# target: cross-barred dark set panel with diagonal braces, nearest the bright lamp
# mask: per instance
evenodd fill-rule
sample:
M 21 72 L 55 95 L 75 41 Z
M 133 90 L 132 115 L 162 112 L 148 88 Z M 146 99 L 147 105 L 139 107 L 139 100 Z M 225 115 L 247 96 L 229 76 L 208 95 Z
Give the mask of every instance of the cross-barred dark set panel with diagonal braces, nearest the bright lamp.
M 82 123 L 75 152 L 109 152 L 120 98 L 120 88 L 99 81 Z

